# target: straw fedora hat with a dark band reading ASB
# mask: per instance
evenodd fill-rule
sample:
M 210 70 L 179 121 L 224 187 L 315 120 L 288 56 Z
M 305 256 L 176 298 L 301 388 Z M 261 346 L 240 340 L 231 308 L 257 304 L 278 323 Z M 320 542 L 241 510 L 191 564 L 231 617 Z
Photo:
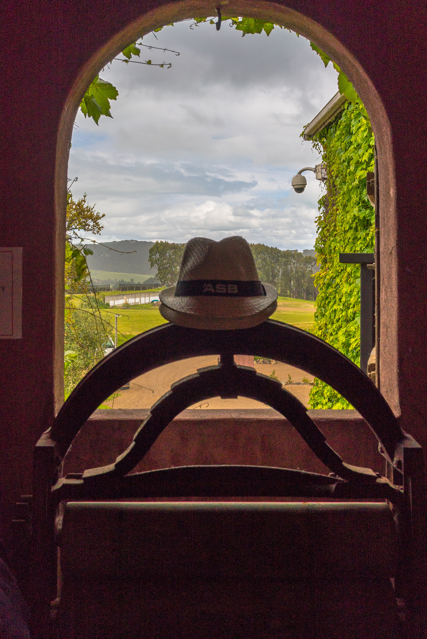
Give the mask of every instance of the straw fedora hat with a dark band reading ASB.
M 159 297 L 162 316 L 187 328 L 249 328 L 277 308 L 276 289 L 260 282 L 251 247 L 238 236 L 192 238 L 176 286 Z

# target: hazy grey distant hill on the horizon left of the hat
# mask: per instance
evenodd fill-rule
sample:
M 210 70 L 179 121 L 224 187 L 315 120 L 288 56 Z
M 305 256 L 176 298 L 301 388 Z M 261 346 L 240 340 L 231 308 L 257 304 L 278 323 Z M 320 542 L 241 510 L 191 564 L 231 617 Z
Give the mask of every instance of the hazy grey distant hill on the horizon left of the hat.
M 156 275 L 157 269 L 150 268 L 148 261 L 148 251 L 153 243 L 141 240 L 121 240 L 120 242 L 104 242 L 104 246 L 89 244 L 93 250 L 93 255 L 88 255 L 86 258 L 89 270 Z M 108 250 L 105 247 L 114 250 Z M 123 254 L 117 251 L 123 251 Z

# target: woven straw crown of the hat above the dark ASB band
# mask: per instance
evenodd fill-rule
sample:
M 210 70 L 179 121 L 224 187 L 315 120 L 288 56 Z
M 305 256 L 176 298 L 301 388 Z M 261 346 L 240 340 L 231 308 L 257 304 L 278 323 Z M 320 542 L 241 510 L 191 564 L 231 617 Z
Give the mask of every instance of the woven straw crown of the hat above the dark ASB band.
M 178 281 L 216 279 L 260 281 L 251 247 L 238 235 L 219 242 L 192 238 L 182 256 Z

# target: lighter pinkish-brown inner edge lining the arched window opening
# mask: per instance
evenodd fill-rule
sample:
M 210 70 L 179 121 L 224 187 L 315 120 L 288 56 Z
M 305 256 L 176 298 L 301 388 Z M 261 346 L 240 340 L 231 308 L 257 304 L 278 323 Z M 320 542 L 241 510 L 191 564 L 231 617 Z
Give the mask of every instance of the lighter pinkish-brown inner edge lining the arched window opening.
M 320 26 L 320 24 L 314 22 L 314 20 L 302 15 L 302 13 L 271 2 L 256 2 L 254 0 L 249 3 L 242 1 L 227 3 L 226 10 L 228 15 L 243 15 L 245 17 L 265 19 L 276 24 L 281 24 L 307 39 L 313 40 L 330 58 L 338 63 L 346 75 L 352 80 L 368 110 L 377 144 L 381 201 L 380 215 L 384 218 L 381 224 L 382 229 L 384 229 L 381 235 L 381 250 L 385 252 L 387 247 L 392 246 L 395 235 L 394 212 L 396 208 L 396 189 L 394 185 L 392 136 L 387 112 L 368 74 L 351 52 L 349 52 L 335 36 Z M 208 2 L 165 4 L 130 22 L 124 29 L 121 29 L 121 31 L 114 35 L 109 42 L 100 47 L 100 49 L 88 59 L 86 64 L 82 66 L 66 99 L 58 131 L 55 183 L 56 227 L 59 233 L 56 244 L 58 250 L 58 273 L 61 272 L 63 264 L 64 233 L 60 229 L 65 227 L 66 177 L 72 127 L 82 96 L 93 77 L 97 75 L 108 61 L 123 50 L 128 43 L 134 42 L 139 36 L 149 33 L 164 24 L 190 19 L 194 16 L 208 17 L 214 14 L 215 8 L 212 3 Z M 268 44 L 266 44 L 266 46 L 268 46 Z M 385 212 L 387 212 L 386 216 Z M 381 350 L 382 369 L 384 369 L 382 392 L 391 404 L 394 412 L 399 413 L 396 350 L 397 334 L 396 331 L 393 332 L 393 327 L 396 327 L 397 324 L 396 318 L 393 316 L 397 306 L 395 290 L 397 281 L 396 261 L 388 261 L 385 263 L 381 277 L 382 288 L 387 289 L 387 300 L 385 300 L 384 295 L 382 296 L 382 324 L 386 327 Z M 58 279 L 58 288 L 62 295 L 61 286 L 62 284 Z M 60 300 L 58 298 L 58 309 L 59 302 Z M 60 355 L 62 353 L 61 339 L 61 334 L 58 333 L 56 350 Z M 60 389 L 60 387 L 61 383 L 58 380 L 57 388 Z

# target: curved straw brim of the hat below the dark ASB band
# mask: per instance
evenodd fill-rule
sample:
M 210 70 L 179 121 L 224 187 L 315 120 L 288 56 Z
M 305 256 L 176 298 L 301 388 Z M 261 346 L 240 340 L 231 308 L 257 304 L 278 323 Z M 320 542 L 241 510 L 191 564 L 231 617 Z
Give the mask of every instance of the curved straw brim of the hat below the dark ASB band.
M 268 319 L 277 308 L 277 291 L 263 282 L 267 295 L 256 297 L 180 296 L 175 286 L 160 291 L 162 316 L 185 328 L 233 330 L 251 328 Z

